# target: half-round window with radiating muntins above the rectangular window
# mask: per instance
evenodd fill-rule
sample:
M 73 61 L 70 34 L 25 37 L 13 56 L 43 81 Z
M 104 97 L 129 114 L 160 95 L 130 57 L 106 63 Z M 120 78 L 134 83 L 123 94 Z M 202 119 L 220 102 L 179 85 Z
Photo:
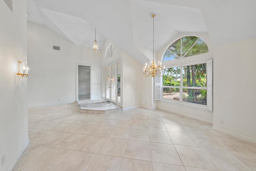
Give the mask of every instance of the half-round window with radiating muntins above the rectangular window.
M 208 52 L 208 46 L 201 38 L 196 36 L 184 36 L 176 40 L 165 51 L 162 62 L 186 58 L 188 56 L 204 54 Z

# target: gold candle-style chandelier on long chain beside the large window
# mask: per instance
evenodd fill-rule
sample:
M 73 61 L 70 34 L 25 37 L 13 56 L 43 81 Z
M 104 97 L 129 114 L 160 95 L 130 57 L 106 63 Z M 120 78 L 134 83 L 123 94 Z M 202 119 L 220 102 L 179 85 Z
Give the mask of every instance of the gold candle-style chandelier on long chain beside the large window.
M 155 58 L 154 58 L 154 17 L 155 16 L 156 16 L 156 14 L 152 14 L 151 15 L 151 17 L 153 18 L 153 60 L 152 60 L 152 62 L 150 61 L 150 65 L 148 65 L 146 63 L 146 66 L 145 66 L 144 72 L 143 72 L 145 77 L 148 77 L 148 76 L 151 76 L 151 77 L 155 77 L 155 76 L 161 77 L 161 76 L 164 75 L 164 73 L 162 74 L 162 62 L 160 62 L 160 64 L 159 64 L 159 61 L 158 61 L 158 66 L 156 66 Z

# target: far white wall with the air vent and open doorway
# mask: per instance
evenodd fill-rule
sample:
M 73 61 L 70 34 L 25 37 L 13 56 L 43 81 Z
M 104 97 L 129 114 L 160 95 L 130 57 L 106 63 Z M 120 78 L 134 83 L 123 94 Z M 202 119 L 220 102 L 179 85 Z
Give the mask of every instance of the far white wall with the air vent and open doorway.
M 60 46 L 60 51 L 52 46 Z M 44 25 L 28 22 L 28 107 L 76 101 L 76 63 L 92 72 L 92 99 L 101 97 L 101 51 L 76 46 Z M 58 101 L 61 99 L 61 101 Z

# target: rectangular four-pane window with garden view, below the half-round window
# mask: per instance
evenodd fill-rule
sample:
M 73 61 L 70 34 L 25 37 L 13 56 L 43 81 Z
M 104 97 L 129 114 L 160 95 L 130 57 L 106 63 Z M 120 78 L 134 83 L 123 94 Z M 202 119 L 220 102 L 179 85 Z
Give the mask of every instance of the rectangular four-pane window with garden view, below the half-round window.
M 207 105 L 206 91 L 206 63 L 165 69 L 162 99 Z

